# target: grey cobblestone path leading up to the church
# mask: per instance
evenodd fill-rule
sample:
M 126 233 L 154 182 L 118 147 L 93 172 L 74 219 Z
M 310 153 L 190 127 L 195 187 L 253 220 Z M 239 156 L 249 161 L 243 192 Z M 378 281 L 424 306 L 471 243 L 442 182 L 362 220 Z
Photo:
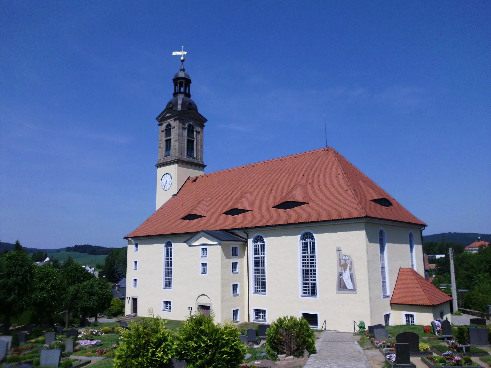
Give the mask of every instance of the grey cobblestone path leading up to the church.
M 317 354 L 304 368 L 371 368 L 358 342 L 350 332 L 325 331 L 317 342 Z

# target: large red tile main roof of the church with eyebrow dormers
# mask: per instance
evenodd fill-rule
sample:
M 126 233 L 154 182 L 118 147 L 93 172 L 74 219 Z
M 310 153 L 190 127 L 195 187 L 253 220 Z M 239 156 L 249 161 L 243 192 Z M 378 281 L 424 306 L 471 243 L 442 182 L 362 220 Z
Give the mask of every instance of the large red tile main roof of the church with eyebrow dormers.
M 392 206 L 371 201 L 378 198 L 388 199 Z M 273 208 L 285 201 L 307 204 Z M 249 211 L 223 214 L 234 208 Z M 181 219 L 190 213 L 204 217 Z M 329 147 L 191 178 L 126 237 L 363 217 L 425 225 Z

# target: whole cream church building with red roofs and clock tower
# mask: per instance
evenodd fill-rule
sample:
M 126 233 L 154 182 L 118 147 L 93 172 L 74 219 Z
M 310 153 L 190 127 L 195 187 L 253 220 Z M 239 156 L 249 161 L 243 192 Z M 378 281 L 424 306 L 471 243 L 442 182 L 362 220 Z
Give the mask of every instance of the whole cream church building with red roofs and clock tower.
M 338 331 L 451 318 L 424 278 L 426 224 L 333 148 L 205 174 L 207 120 L 181 60 L 157 117 L 156 211 L 125 237 L 127 315 Z

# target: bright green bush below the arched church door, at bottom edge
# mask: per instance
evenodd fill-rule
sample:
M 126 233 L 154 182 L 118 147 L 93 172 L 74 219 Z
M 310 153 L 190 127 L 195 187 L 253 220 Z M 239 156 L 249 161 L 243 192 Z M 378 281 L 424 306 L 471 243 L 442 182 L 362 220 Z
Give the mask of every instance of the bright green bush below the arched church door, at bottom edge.
M 239 336 L 235 325 L 215 324 L 213 315 L 198 312 L 177 330 L 176 358 L 185 360 L 189 368 L 237 367 L 246 353 Z

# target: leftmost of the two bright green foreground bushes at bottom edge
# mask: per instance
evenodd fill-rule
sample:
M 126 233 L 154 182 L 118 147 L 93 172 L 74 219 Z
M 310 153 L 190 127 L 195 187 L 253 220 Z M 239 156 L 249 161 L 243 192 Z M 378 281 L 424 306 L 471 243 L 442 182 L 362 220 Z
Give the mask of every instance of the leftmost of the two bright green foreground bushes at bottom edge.
M 158 367 L 173 357 L 172 337 L 160 317 L 144 318 L 123 330 L 123 343 L 116 350 L 115 368 Z

